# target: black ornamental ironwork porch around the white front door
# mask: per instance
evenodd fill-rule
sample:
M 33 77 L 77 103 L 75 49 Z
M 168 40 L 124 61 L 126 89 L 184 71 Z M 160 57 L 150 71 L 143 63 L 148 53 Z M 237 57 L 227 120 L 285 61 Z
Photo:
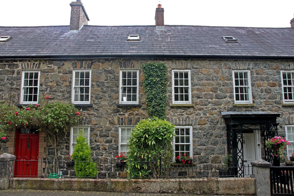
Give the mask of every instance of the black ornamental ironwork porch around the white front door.
M 264 155 L 262 158 L 273 163 L 272 151 L 264 145 L 266 140 L 277 135 L 278 113 L 267 112 L 221 112 L 227 126 L 227 153 L 232 155 L 229 165 L 244 165 L 243 133 L 260 130 Z M 238 168 L 239 176 L 244 175 L 242 167 Z

